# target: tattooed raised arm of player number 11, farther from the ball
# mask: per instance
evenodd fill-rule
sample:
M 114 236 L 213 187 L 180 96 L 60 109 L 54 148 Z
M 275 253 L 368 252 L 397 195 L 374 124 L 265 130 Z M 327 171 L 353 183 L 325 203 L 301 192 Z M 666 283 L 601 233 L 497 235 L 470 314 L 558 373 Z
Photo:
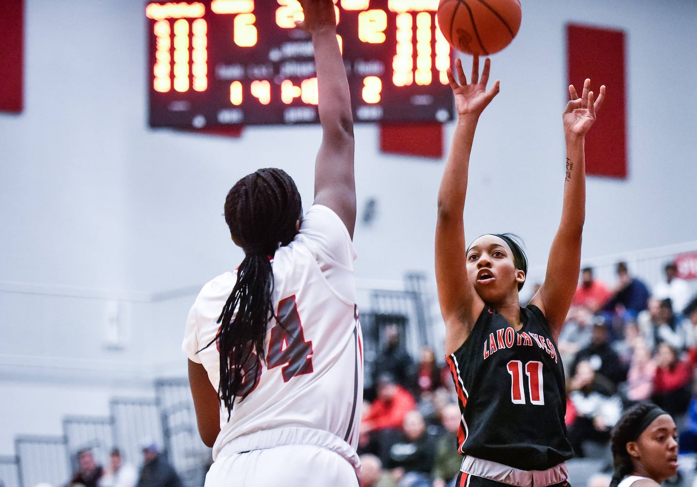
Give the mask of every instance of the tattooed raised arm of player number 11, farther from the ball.
M 573 85 L 569 86 L 571 100 L 564 110 L 566 138 L 566 177 L 562 218 L 552 241 L 544 283 L 530 304 L 542 310 L 558 339 L 571 306 L 579 269 L 581 269 L 581 234 L 585 220 L 585 134 L 595 122 L 595 114 L 605 98 L 605 86 L 595 99 L 590 91 L 590 80 L 583 83 L 581 97 Z

